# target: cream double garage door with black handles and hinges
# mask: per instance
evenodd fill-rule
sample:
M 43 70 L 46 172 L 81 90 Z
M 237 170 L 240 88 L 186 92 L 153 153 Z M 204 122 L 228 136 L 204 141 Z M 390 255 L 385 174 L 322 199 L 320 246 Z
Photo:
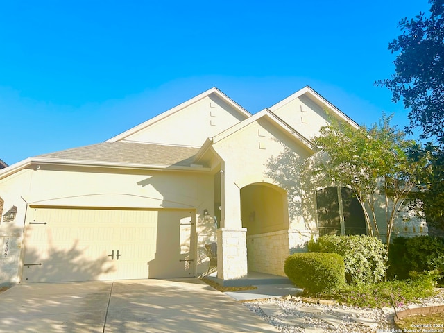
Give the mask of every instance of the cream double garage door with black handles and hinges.
M 31 207 L 22 282 L 194 276 L 192 213 Z

